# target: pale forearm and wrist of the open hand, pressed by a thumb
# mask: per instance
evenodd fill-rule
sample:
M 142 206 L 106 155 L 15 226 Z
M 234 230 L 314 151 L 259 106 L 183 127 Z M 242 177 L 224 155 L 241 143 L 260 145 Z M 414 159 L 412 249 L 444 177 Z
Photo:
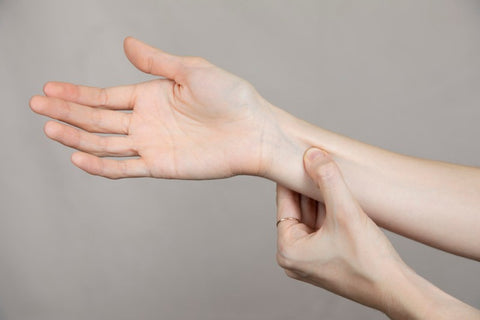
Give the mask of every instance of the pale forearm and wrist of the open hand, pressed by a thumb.
M 329 152 L 364 210 L 380 226 L 480 259 L 480 170 L 395 154 L 323 130 L 272 107 L 276 128 L 265 176 L 322 201 L 306 176 L 310 146 Z M 448 230 L 448 232 L 446 232 Z

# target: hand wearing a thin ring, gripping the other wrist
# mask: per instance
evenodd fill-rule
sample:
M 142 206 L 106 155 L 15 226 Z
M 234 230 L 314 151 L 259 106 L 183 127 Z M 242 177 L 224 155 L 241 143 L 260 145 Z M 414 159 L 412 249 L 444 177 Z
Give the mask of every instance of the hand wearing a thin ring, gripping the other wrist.
M 363 212 L 333 160 L 320 149 L 304 158 L 325 205 L 277 186 L 277 260 L 288 276 L 362 304 L 389 306 L 391 277 L 405 267 L 384 233 Z

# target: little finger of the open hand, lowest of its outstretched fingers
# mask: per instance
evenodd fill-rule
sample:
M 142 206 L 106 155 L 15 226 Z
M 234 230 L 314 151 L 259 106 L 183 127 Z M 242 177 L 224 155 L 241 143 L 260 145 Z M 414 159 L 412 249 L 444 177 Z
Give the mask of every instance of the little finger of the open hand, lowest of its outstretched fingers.
M 90 174 L 110 179 L 150 176 L 143 159 L 112 160 L 76 152 L 72 155 L 72 162 Z

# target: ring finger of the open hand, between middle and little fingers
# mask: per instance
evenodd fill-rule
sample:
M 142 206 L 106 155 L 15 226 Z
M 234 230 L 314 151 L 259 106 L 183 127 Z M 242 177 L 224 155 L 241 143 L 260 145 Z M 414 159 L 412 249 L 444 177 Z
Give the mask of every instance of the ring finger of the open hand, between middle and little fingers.
M 98 156 L 128 157 L 137 155 L 131 140 L 125 136 L 98 136 L 55 121 L 45 124 L 45 134 L 63 145 Z

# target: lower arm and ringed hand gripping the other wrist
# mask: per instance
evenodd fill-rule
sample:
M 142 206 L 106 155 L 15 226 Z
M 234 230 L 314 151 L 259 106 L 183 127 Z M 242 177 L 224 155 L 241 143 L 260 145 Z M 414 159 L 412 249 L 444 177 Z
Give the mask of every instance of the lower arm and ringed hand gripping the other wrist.
M 415 274 L 364 213 L 338 166 L 310 149 L 305 170 L 325 205 L 278 185 L 277 260 L 288 276 L 392 319 L 480 319 L 480 312 Z

